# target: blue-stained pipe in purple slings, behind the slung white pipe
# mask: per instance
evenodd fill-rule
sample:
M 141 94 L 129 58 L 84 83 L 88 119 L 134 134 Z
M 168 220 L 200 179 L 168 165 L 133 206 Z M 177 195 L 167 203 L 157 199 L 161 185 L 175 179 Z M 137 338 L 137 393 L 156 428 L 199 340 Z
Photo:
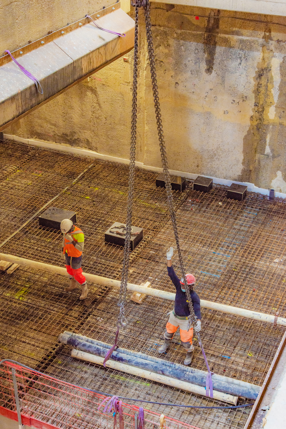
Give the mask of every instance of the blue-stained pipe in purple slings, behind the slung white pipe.
M 87 353 L 95 354 L 96 356 L 105 357 L 107 347 L 101 347 L 98 344 L 92 344 L 91 342 L 84 341 L 82 339 L 76 338 L 75 336 L 69 336 L 66 334 L 60 334 L 59 341 L 64 344 L 69 344 L 74 348 L 78 348 Z M 141 353 L 142 354 L 142 353 Z M 121 353 L 120 351 L 115 350 L 110 359 L 115 360 L 120 363 L 125 363 L 127 365 L 136 366 L 147 371 L 156 372 L 157 374 L 166 375 L 168 377 L 177 378 L 178 380 L 187 381 L 189 383 L 197 384 L 198 386 L 205 387 L 206 385 L 206 375 L 204 371 L 197 371 L 195 369 L 185 369 L 181 368 L 180 365 L 163 361 L 154 362 L 154 360 L 149 360 L 149 356 L 146 356 L 145 359 L 142 357 L 134 356 L 132 354 Z M 213 388 L 224 393 L 230 393 L 235 396 L 242 396 L 247 399 L 256 399 L 260 390 L 259 386 L 248 384 L 247 387 L 239 386 L 235 384 L 230 384 L 222 380 L 217 380 L 213 378 Z

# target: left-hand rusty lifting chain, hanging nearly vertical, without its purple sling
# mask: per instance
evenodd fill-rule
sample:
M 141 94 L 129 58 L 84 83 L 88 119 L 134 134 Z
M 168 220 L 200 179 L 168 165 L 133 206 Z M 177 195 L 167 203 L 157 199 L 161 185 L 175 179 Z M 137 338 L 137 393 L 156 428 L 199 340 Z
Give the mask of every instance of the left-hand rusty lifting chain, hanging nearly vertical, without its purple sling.
M 132 87 L 132 121 L 131 121 L 131 145 L 130 145 L 130 164 L 129 164 L 129 180 L 128 180 L 128 197 L 127 197 L 127 218 L 126 218 L 126 234 L 123 251 L 123 267 L 120 283 L 118 306 L 119 315 L 117 319 L 117 329 L 120 326 L 126 326 L 127 320 L 125 316 L 125 301 L 127 292 L 127 280 L 129 270 L 129 255 L 130 255 L 130 238 L 132 226 L 132 204 L 134 191 L 134 168 L 136 154 L 136 123 L 137 123 L 137 74 L 138 74 L 138 4 L 135 7 L 135 38 L 134 38 L 134 67 L 133 67 L 133 87 Z

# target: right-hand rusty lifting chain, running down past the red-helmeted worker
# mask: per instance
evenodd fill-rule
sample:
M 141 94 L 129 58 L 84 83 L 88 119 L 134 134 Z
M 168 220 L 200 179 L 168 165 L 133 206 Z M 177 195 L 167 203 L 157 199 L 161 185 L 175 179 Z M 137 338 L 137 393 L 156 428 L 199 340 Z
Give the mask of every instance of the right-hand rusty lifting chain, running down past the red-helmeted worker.
M 155 67 L 155 56 L 154 56 L 154 47 L 153 47 L 153 36 L 152 36 L 152 30 L 151 30 L 149 0 L 146 1 L 146 6 L 144 7 L 144 11 L 145 11 L 147 42 L 148 42 L 147 43 L 148 44 L 148 56 L 149 56 L 150 70 L 151 70 L 155 113 L 156 113 L 156 120 L 157 120 L 157 130 L 158 130 L 158 136 L 159 136 L 159 142 L 160 142 L 160 152 L 161 152 L 161 159 L 162 159 L 162 165 L 163 165 L 163 172 L 165 175 L 167 202 L 168 202 L 169 211 L 170 211 L 170 215 L 171 215 L 171 219 L 172 219 L 173 230 L 174 230 L 175 240 L 176 240 L 177 249 L 178 249 L 178 256 L 179 256 L 179 262 L 180 262 L 182 277 L 184 278 L 184 283 L 186 286 L 185 289 L 186 289 L 186 295 L 187 295 L 187 302 L 188 302 L 189 310 L 190 310 L 190 316 L 188 317 L 188 327 L 187 327 L 187 330 L 189 330 L 190 325 L 191 324 L 194 325 L 196 323 L 197 317 L 196 317 L 196 314 L 195 314 L 194 309 L 193 309 L 193 303 L 192 303 L 192 299 L 191 299 L 190 289 L 189 289 L 189 287 L 187 287 L 188 284 L 187 284 L 186 273 L 185 273 L 185 269 L 184 269 L 184 262 L 183 262 L 183 257 L 181 254 L 181 248 L 180 248 L 180 242 L 179 242 L 179 236 L 178 236 L 177 220 L 176 220 L 174 200 L 173 200 L 173 194 L 172 194 L 172 185 L 171 185 L 169 168 L 168 168 L 166 146 L 165 146 L 165 141 L 164 141 L 163 126 L 162 126 L 162 119 L 161 119 L 161 112 L 160 112 L 157 75 L 156 75 L 156 67 Z M 199 337 L 198 339 L 200 341 L 200 335 L 199 335 L 199 333 L 197 333 L 197 334 L 198 334 L 197 336 Z

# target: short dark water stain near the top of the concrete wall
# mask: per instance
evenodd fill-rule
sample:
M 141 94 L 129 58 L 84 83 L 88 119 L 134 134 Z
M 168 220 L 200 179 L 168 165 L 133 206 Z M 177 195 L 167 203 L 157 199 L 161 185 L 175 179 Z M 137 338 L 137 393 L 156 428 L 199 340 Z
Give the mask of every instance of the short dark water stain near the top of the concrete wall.
M 216 13 L 215 13 L 216 12 Z M 205 73 L 211 75 L 214 70 L 214 57 L 217 48 L 217 30 L 220 27 L 220 10 L 211 10 L 204 35 Z

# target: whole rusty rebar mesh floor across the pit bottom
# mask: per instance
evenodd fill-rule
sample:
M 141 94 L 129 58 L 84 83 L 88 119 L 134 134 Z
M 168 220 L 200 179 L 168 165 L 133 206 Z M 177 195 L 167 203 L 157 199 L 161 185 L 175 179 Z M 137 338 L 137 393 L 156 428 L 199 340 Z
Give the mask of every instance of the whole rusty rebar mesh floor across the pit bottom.
M 128 280 L 150 281 L 154 288 L 173 292 L 166 249 L 175 249 L 175 239 L 165 189 L 155 186 L 156 176 L 143 169 L 135 171 L 132 224 L 144 229 L 144 239 L 132 252 Z M 106 244 L 104 233 L 115 221 L 126 222 L 127 188 L 126 165 L 1 142 L 0 252 L 63 266 L 61 233 L 39 227 L 38 215 L 33 215 L 49 206 L 73 210 L 85 234 L 84 272 L 120 280 L 123 248 Z M 192 188 L 188 181 L 184 192 L 174 192 L 174 200 L 185 267 L 196 277 L 200 298 L 286 317 L 285 200 L 269 201 L 250 192 L 239 202 L 226 198 L 226 186 L 215 185 L 209 193 Z M 173 266 L 180 275 L 176 251 Z M 80 301 L 79 290 L 63 292 L 67 282 L 63 276 L 24 267 L 12 274 L 0 271 L 1 359 L 14 359 L 65 381 L 121 396 L 225 405 L 71 358 L 70 347 L 57 341 L 64 330 L 113 344 L 118 291 L 88 284 L 87 299 Z M 130 293 L 128 325 L 120 330 L 120 346 L 158 356 L 172 302 L 147 296 L 138 305 L 129 297 Z M 202 309 L 202 341 L 211 371 L 253 384 L 262 385 L 284 330 Z M 205 370 L 197 341 L 194 345 L 192 366 Z M 182 363 L 184 355 L 177 333 L 171 350 L 160 357 Z M 239 404 L 244 403 L 239 399 Z M 250 412 L 250 408 L 144 406 L 201 429 L 243 428 Z

